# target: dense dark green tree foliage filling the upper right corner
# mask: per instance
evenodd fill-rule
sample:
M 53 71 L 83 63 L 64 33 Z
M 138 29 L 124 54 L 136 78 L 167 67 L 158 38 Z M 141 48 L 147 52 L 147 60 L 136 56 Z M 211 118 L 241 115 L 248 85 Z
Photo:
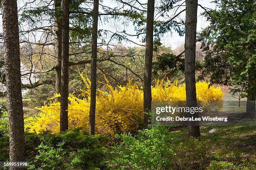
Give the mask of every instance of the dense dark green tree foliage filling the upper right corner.
M 241 85 L 256 99 L 256 2 L 215 0 L 217 10 L 205 13 L 210 25 L 200 33 L 206 51 L 202 76 L 213 83 Z M 213 48 L 210 48 L 210 47 Z

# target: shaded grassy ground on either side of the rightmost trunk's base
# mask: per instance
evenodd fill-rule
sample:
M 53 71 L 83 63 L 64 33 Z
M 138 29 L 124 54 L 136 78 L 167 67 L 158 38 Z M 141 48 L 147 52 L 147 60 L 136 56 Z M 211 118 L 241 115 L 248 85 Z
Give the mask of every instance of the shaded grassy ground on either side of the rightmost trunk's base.
M 214 133 L 209 133 L 212 128 L 217 128 Z M 230 148 L 255 155 L 256 153 L 256 127 L 255 126 L 217 126 L 217 127 L 200 127 L 201 137 L 207 139 L 207 145 L 211 151 Z M 187 140 L 187 128 L 182 128 L 178 131 L 169 132 L 175 133 L 174 143 L 178 144 Z

